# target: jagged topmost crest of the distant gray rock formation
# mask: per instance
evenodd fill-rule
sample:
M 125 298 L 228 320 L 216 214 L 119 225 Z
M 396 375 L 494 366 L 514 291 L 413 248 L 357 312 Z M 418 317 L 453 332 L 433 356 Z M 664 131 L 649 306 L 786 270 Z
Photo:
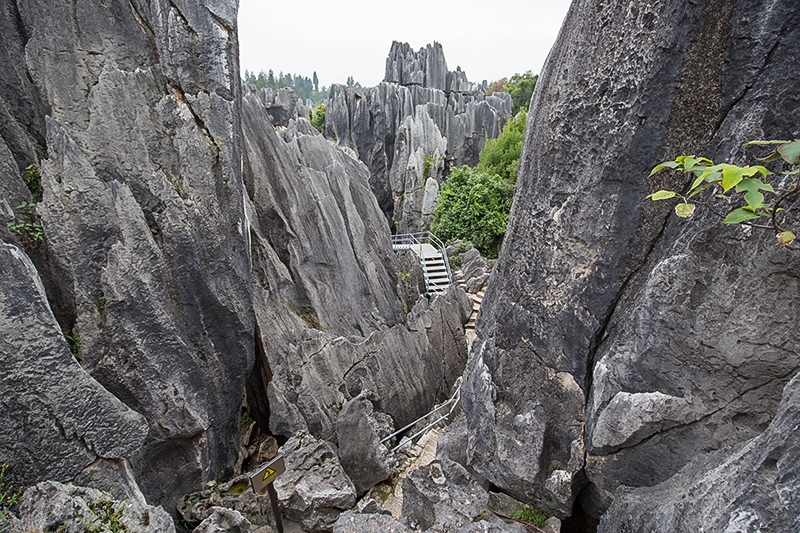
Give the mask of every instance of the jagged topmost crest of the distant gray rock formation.
M 407 87 L 430 87 L 446 93 L 476 93 L 482 88 L 467 80 L 467 73 L 461 67 L 456 67 L 453 72 L 448 71 L 442 45 L 435 41 L 418 52 L 408 43 L 392 42 L 383 81 Z

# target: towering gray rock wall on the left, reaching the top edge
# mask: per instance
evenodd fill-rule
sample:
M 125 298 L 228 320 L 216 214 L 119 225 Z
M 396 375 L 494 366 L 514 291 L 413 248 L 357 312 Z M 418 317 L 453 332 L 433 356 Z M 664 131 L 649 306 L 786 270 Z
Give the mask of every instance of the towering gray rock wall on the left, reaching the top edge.
M 62 389 L 104 388 L 121 402 L 116 412 L 128 413 L 111 416 L 110 399 L 93 392 L 101 399 L 93 413 L 88 396 L 73 409 L 98 433 L 65 444 L 57 456 L 69 464 L 6 460 L 25 473 L 16 482 L 66 481 L 110 450 L 129 460 L 150 502 L 171 507 L 235 462 L 253 361 L 235 4 L 6 2 L 0 24 L 0 210 L 8 220 L 7 208 L 30 198 L 21 169 L 46 152 L 36 206 L 45 241 L 31 254 L 60 329 L 80 339 L 81 365 L 96 381 L 62 374 Z M 38 342 L 49 351 L 29 353 L 20 372 L 71 360 L 52 322 L 31 327 L 47 330 Z M 4 357 L 28 353 L 32 338 L 15 340 Z M 19 387 L 31 397 L 43 383 Z M 8 438 L 47 438 L 68 397 L 18 404 L 51 421 Z M 142 417 L 145 439 L 131 450 Z M 63 440 L 77 439 L 71 431 L 64 427 Z M 75 445 L 86 451 L 73 455 Z

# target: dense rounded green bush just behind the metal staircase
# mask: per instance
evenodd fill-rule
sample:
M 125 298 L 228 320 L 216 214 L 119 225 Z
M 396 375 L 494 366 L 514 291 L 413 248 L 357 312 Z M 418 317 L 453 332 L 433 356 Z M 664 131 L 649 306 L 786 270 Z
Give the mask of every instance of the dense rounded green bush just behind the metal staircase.
M 445 242 L 469 241 L 496 258 L 503 242 L 514 188 L 497 174 L 456 168 L 442 184 L 431 231 Z

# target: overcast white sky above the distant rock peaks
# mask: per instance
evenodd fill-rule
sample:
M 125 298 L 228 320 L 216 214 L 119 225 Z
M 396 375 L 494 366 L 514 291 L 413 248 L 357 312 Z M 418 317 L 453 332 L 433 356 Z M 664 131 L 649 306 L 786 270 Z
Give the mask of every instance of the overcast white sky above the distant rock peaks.
M 364 87 L 383 80 L 392 41 L 418 50 L 438 41 L 447 68 L 470 81 L 537 74 L 571 0 L 239 0 L 242 72 L 272 69 L 319 76 L 320 86 L 348 76 Z

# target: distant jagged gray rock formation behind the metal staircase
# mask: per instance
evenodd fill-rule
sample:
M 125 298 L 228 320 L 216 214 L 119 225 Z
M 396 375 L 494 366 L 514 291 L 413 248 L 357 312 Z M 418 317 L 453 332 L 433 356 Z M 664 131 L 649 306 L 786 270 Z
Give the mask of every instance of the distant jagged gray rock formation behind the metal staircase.
M 392 43 L 384 82 L 334 85 L 325 135 L 351 148 L 399 233 L 430 228 L 438 184 L 452 166 L 475 165 L 486 137 L 511 116 L 511 97 L 486 96 L 460 69 L 448 72 L 441 45 L 414 52 Z

